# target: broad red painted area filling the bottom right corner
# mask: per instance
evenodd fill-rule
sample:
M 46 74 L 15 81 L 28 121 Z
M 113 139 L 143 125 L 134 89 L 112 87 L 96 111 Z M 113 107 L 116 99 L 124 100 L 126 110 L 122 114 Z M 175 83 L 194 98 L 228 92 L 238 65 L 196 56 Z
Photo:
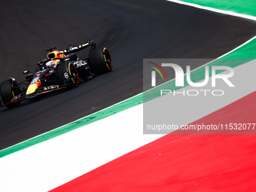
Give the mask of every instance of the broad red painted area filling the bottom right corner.
M 256 123 L 256 92 L 195 123 L 233 121 Z M 255 135 L 172 134 L 52 191 L 256 191 L 255 178 Z

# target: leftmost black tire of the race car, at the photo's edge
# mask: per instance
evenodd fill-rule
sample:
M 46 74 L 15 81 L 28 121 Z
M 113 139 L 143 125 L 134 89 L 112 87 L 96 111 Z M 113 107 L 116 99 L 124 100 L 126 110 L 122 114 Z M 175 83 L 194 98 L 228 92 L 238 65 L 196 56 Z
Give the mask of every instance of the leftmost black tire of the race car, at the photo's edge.
M 8 108 L 14 108 L 20 105 L 20 100 L 13 102 L 14 98 L 17 98 L 20 94 L 20 87 L 16 81 L 6 80 L 0 85 L 0 94 L 3 104 Z

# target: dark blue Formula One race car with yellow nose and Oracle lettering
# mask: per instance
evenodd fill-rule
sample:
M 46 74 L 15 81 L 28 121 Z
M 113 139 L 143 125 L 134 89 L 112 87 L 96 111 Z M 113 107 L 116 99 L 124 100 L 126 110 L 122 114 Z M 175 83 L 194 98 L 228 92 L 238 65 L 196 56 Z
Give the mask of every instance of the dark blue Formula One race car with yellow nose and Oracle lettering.
M 90 47 L 89 58 L 78 59 L 75 52 Z M 0 86 L 2 104 L 8 108 L 20 105 L 22 100 L 31 99 L 43 93 L 55 90 L 70 89 L 78 84 L 105 72 L 111 72 L 112 59 L 107 48 L 96 48 L 93 41 L 78 46 L 70 46 L 66 50 L 50 49 L 48 59 L 38 62 L 35 73 L 29 71 L 26 80 L 20 83 L 8 78 Z

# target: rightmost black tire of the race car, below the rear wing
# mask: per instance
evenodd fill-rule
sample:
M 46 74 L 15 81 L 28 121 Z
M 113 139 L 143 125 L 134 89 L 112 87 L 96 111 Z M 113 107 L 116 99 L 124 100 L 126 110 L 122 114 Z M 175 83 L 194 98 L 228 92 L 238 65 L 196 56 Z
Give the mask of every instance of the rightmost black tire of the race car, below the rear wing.
M 106 47 L 90 50 L 89 62 L 90 69 L 92 69 L 96 75 L 112 71 L 113 63 Z

